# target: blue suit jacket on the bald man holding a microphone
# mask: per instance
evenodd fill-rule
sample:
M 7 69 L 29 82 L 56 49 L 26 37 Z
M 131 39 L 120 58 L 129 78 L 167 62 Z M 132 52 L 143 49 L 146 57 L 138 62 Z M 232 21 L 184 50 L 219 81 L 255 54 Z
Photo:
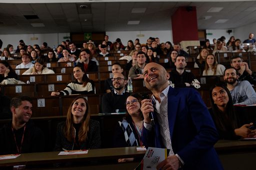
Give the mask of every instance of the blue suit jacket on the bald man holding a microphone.
M 164 148 L 155 113 L 151 131 L 143 128 L 146 147 Z M 169 87 L 168 125 L 171 146 L 184 162 L 183 169 L 222 170 L 213 145 L 218 134 L 199 93 L 192 88 Z

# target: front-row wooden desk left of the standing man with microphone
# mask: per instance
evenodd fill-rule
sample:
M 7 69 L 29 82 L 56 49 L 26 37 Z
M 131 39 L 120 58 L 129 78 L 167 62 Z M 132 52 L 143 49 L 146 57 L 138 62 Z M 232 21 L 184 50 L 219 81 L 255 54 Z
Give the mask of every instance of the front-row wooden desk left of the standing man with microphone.
M 106 163 L 105 160 L 117 160 L 119 158 L 141 158 L 142 159 L 145 154 L 144 151 L 137 152 L 136 147 L 94 149 L 94 150 L 89 150 L 88 154 L 81 154 L 81 155 L 58 156 L 58 153 L 59 152 L 21 154 L 16 159 L 0 160 L 0 167 L 7 167 L 7 166 L 14 166 L 14 165 L 53 164 L 53 163 L 62 163 L 62 162 L 66 163 L 66 162 L 77 162 L 77 161 L 79 162 L 97 161 L 97 163 L 93 165 L 93 169 L 95 168 L 95 170 L 97 170 L 97 166 L 99 166 L 101 163 L 100 161 L 104 160 L 104 163 Z M 113 163 L 113 162 L 110 161 L 110 163 Z M 116 161 L 116 164 L 117 164 L 117 161 Z M 86 163 L 83 166 L 86 166 Z M 48 167 L 48 168 L 50 169 L 51 167 Z M 133 167 L 132 169 L 134 168 L 135 167 Z

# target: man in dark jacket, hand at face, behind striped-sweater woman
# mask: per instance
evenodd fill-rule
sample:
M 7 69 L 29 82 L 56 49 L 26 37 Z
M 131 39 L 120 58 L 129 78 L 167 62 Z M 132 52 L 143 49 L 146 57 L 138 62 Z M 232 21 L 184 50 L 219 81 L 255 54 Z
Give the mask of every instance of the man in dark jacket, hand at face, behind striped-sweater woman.
M 95 61 L 92 61 L 90 58 L 92 58 L 90 50 L 89 49 L 83 49 L 83 50 L 81 50 L 79 58 L 76 60 L 76 63 L 77 63 L 77 65 L 83 67 L 85 72 L 96 72 L 96 71 L 98 71 L 97 63 Z

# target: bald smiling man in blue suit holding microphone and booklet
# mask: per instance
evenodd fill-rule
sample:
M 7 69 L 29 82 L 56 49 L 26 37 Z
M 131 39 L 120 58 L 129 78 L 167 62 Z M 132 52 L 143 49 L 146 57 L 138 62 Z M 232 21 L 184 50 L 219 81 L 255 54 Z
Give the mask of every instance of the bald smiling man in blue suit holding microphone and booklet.
M 142 100 L 140 108 L 143 144 L 170 150 L 157 170 L 222 170 L 213 148 L 218 134 L 199 93 L 192 88 L 170 87 L 169 73 L 156 63 L 148 63 L 143 76 L 153 93 L 151 100 Z

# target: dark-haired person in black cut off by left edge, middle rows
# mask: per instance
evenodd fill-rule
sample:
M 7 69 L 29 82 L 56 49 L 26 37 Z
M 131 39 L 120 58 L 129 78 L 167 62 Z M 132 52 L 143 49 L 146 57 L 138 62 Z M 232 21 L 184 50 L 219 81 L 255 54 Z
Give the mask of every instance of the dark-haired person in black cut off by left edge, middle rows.
M 17 79 L 17 74 L 5 60 L 0 60 L 0 82 L 7 78 Z

